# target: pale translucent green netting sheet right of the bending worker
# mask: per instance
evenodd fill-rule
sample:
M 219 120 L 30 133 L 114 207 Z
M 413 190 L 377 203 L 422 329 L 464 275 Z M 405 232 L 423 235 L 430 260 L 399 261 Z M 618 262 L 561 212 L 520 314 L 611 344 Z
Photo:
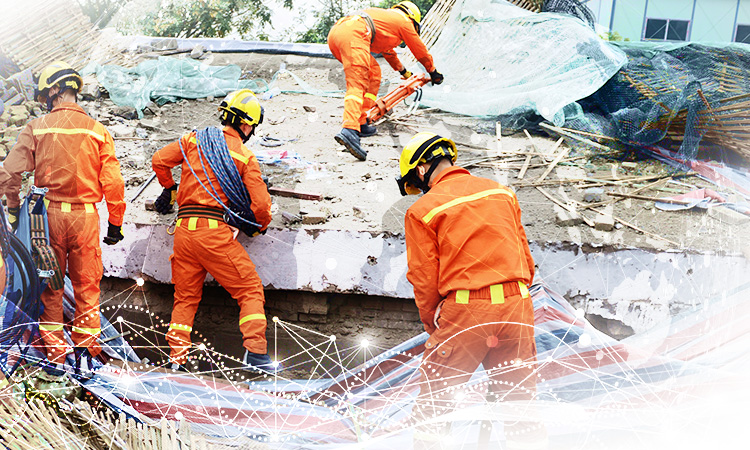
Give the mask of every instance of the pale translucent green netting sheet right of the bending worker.
M 425 87 L 423 104 L 477 117 L 534 112 L 557 125 L 627 61 L 577 18 L 502 0 L 457 1 L 431 52 L 445 83 Z

